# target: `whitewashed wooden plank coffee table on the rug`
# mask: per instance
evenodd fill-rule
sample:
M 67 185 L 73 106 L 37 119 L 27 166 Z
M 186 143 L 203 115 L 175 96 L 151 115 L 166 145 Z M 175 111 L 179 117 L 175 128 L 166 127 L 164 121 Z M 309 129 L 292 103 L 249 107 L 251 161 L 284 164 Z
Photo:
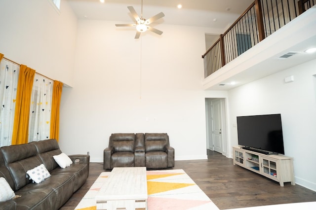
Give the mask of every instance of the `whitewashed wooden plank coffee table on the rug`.
M 96 196 L 97 210 L 147 210 L 146 167 L 114 168 Z

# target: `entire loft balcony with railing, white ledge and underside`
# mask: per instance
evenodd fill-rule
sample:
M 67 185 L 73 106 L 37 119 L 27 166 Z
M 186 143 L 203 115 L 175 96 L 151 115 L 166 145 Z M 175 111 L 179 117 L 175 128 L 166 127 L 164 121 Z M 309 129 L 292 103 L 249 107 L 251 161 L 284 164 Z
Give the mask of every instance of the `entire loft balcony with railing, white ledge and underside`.
M 203 89 L 229 90 L 316 59 L 304 53 L 316 47 L 315 4 L 255 0 L 202 55 Z

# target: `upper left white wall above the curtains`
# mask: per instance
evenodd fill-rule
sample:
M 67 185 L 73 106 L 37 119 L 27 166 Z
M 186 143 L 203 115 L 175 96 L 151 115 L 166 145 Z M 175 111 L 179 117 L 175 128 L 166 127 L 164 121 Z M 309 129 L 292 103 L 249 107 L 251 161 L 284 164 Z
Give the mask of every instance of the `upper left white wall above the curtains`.
M 0 1 L 0 53 L 72 85 L 77 18 L 68 3 L 60 13 L 48 0 Z

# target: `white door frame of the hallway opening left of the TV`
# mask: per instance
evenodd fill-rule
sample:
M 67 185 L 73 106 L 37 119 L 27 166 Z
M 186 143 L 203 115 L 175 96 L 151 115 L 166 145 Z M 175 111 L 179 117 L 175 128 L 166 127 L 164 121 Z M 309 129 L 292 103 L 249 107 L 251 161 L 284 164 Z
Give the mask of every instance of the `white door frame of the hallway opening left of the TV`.
M 227 140 L 227 103 L 226 98 L 205 98 L 205 120 L 206 120 L 206 146 L 207 149 L 214 151 L 214 140 L 213 140 L 213 125 L 212 125 L 212 101 L 213 100 L 221 100 L 222 104 L 222 154 L 227 156 L 228 155 L 228 140 Z

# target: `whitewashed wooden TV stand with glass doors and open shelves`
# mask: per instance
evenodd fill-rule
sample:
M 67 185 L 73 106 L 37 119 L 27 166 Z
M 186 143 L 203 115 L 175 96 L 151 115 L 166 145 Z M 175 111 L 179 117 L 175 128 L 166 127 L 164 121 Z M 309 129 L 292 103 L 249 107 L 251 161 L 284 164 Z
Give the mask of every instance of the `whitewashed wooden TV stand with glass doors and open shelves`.
M 234 165 L 271 178 L 280 186 L 284 186 L 284 182 L 295 185 L 293 158 L 281 154 L 266 155 L 243 149 L 242 146 L 233 146 L 233 154 Z

